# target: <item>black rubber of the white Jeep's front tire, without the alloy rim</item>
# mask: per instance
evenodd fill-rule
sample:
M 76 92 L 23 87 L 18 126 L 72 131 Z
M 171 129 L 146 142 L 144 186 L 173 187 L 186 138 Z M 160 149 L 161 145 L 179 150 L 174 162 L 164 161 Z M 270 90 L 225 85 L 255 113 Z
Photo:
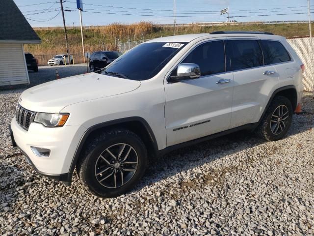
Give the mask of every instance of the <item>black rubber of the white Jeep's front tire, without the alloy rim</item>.
M 130 145 L 137 153 L 138 156 L 138 166 L 134 176 L 126 184 L 118 188 L 106 188 L 98 182 L 95 177 L 95 164 L 99 155 L 105 150 L 105 148 L 111 145 L 125 143 Z M 96 195 L 101 197 L 115 197 L 129 191 L 143 176 L 146 166 L 147 166 L 147 154 L 143 144 L 134 137 L 127 137 L 126 135 L 116 136 L 110 138 L 109 140 L 101 141 L 97 144 L 95 148 L 87 156 L 86 169 L 84 170 L 83 181 L 86 182 L 89 189 Z

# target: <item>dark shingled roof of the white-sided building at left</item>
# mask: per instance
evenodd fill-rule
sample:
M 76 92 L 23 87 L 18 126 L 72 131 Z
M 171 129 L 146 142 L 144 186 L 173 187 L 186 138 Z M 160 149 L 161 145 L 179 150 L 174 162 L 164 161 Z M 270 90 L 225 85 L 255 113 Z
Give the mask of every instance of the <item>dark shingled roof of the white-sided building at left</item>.
M 13 0 L 0 0 L 0 43 L 41 43 Z

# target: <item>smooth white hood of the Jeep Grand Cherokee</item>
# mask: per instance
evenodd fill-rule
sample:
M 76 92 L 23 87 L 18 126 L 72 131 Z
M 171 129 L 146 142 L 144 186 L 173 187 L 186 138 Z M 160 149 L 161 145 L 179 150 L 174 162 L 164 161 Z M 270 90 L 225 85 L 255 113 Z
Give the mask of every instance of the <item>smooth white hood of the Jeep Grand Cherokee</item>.
M 19 101 L 30 111 L 56 113 L 65 106 L 130 92 L 140 85 L 137 80 L 89 73 L 32 87 L 22 93 Z

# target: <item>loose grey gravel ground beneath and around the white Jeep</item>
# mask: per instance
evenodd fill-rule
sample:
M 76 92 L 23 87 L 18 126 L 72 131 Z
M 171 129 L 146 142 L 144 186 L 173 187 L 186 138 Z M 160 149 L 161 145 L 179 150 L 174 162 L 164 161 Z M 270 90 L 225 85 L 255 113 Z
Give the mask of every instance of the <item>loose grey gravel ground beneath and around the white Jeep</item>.
M 314 235 L 314 105 L 288 136 L 239 132 L 151 162 L 137 187 L 100 199 L 40 177 L 10 144 L 22 90 L 0 93 L 0 235 Z

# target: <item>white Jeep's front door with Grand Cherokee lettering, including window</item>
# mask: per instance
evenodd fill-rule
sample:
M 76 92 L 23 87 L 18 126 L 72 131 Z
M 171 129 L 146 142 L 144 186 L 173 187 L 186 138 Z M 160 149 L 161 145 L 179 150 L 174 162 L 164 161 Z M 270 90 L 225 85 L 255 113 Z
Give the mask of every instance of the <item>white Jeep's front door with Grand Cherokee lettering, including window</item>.
M 201 77 L 165 82 L 168 147 L 227 130 L 231 120 L 234 81 L 226 70 L 224 41 L 200 44 L 181 63 L 198 64 Z

